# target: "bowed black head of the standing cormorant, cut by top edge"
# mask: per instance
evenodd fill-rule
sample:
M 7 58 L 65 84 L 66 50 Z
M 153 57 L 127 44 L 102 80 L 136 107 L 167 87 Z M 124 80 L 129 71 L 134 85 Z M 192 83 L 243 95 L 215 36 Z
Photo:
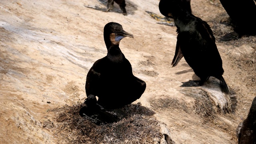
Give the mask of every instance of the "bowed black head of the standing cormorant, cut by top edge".
M 173 14 L 191 13 L 190 0 L 160 0 L 159 10 L 162 15 L 173 18 Z

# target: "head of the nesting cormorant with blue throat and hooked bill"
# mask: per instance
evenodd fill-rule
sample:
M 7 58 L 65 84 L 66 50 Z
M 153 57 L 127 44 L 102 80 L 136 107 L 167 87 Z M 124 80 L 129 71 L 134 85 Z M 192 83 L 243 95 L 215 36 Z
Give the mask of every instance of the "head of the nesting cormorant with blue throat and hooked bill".
M 104 41 L 107 48 L 111 45 L 118 45 L 125 37 L 133 38 L 133 35 L 124 31 L 121 24 L 109 22 L 104 27 Z

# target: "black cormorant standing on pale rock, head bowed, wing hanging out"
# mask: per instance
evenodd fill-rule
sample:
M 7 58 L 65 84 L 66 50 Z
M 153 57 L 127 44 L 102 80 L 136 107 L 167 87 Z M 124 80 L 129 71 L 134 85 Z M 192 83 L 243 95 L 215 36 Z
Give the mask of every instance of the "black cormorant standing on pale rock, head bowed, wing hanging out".
M 200 78 L 203 85 L 210 76 L 220 80 L 222 90 L 230 94 L 222 77 L 222 59 L 215 44 L 210 26 L 201 18 L 194 16 L 187 3 L 181 0 L 160 0 L 159 10 L 167 17 L 172 16 L 177 27 L 177 43 L 172 66 L 176 66 L 184 56 L 188 65 Z

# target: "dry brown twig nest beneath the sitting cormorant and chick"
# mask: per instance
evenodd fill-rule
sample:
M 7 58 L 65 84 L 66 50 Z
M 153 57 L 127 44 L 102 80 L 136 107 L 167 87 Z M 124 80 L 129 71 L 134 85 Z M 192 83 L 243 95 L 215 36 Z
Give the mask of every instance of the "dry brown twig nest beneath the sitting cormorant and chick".
M 86 117 L 81 117 L 79 110 L 82 106 L 84 105 L 65 105 L 51 110 L 58 123 L 53 126 L 51 122 L 47 122 L 44 127 L 55 128 L 60 140 L 64 139 L 66 143 L 72 144 L 153 144 L 164 137 L 153 116 L 154 111 L 139 104 L 122 108 L 129 115 L 128 118 L 103 125 L 96 125 Z

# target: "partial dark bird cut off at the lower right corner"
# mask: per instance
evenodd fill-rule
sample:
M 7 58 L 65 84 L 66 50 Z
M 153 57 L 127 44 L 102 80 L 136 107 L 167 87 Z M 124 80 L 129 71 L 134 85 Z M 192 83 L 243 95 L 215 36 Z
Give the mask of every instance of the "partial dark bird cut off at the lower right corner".
M 247 118 L 238 130 L 238 144 L 256 144 L 256 97 L 252 101 Z

